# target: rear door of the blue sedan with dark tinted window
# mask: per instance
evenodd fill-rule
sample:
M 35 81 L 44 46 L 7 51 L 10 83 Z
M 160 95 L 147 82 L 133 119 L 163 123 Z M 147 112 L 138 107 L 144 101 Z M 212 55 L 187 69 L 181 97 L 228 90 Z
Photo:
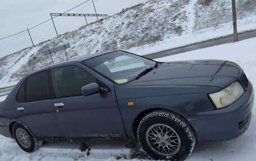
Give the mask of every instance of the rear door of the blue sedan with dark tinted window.
M 47 71 L 28 76 L 17 92 L 17 119 L 38 137 L 58 137 L 56 110 L 51 107 Z

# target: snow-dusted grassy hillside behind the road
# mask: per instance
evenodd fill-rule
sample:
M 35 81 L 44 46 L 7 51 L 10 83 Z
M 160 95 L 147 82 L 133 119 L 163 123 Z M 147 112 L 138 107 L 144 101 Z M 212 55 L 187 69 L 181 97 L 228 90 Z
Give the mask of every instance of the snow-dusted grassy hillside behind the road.
M 256 29 L 256 1 L 237 0 L 239 31 Z M 179 47 L 232 33 L 231 1 L 150 0 L 0 59 L 0 87 L 51 65 L 44 50 L 70 43 L 68 57 L 123 49 L 139 54 Z M 53 54 L 54 62 L 65 54 Z

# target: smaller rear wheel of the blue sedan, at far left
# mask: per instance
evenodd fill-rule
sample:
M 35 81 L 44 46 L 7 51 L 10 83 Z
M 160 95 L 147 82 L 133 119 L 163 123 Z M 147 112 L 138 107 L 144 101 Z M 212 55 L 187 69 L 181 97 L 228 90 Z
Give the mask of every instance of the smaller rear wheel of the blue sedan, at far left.
M 38 150 L 43 144 L 42 141 L 36 140 L 31 132 L 19 123 L 13 125 L 12 134 L 20 148 L 28 153 Z

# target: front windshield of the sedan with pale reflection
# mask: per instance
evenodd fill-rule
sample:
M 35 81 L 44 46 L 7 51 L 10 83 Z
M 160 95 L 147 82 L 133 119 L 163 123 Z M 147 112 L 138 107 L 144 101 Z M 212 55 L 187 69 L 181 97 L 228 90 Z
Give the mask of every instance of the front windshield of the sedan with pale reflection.
M 83 62 L 117 84 L 126 84 L 146 74 L 157 64 L 127 52 L 113 52 Z

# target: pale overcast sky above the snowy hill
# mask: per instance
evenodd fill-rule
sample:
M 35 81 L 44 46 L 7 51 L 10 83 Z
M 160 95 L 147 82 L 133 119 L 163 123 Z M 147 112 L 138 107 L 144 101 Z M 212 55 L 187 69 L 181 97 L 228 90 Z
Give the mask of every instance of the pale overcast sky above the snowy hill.
M 113 15 L 122 8 L 134 6 L 147 0 L 94 0 L 98 13 Z M 1 0 L 0 5 L 0 39 L 25 30 L 48 20 L 49 13 L 62 13 L 80 3 L 82 0 Z M 94 13 L 93 4 L 89 2 L 68 13 Z M 89 22 L 97 20 L 96 17 L 88 17 Z M 86 24 L 84 17 L 57 17 L 54 19 L 58 34 L 78 29 Z M 30 25 L 31 24 L 31 25 Z M 34 44 L 56 36 L 52 22 L 49 21 L 41 26 L 30 30 Z M 0 57 L 11 54 L 20 49 L 29 47 L 31 41 L 27 32 L 0 40 Z

